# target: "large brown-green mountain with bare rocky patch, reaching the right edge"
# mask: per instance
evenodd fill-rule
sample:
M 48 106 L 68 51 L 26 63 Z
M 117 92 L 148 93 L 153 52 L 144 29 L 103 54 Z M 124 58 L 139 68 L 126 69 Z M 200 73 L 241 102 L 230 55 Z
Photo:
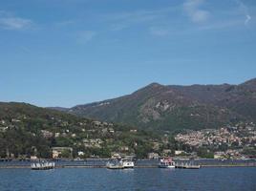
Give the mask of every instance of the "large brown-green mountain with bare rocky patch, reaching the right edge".
M 161 130 L 215 128 L 241 120 L 256 121 L 256 78 L 239 85 L 152 83 L 131 95 L 77 105 L 68 112 Z

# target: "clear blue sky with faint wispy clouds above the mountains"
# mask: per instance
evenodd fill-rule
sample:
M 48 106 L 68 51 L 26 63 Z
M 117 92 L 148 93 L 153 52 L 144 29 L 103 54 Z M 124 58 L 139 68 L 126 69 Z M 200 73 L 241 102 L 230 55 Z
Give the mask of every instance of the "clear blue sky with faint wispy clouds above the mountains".
M 0 0 L 0 101 L 72 107 L 256 77 L 255 0 Z

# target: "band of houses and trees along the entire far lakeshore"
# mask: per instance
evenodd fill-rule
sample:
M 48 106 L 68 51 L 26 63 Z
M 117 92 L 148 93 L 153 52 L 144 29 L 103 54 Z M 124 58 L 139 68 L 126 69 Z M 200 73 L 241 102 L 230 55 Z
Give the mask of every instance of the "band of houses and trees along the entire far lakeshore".
M 38 126 L 40 120 L 33 120 L 33 123 L 31 120 L 24 115 L 9 120 L 0 119 L 2 159 L 256 157 L 256 129 L 252 122 L 174 134 L 168 131 L 147 132 L 97 120 L 65 120 L 61 117 L 49 117 L 49 126 L 42 128 L 42 125 Z M 30 125 L 37 125 L 38 128 Z

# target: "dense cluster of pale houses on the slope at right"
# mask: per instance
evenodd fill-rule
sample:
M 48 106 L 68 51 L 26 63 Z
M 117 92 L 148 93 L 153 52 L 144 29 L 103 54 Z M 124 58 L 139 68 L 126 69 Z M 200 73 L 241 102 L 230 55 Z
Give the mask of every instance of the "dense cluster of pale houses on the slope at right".
M 250 150 L 255 152 L 256 147 L 256 129 L 252 122 L 238 123 L 220 129 L 187 131 L 178 134 L 175 139 L 191 148 L 205 147 L 214 151 L 214 159 L 255 158 L 255 153 L 249 152 Z

